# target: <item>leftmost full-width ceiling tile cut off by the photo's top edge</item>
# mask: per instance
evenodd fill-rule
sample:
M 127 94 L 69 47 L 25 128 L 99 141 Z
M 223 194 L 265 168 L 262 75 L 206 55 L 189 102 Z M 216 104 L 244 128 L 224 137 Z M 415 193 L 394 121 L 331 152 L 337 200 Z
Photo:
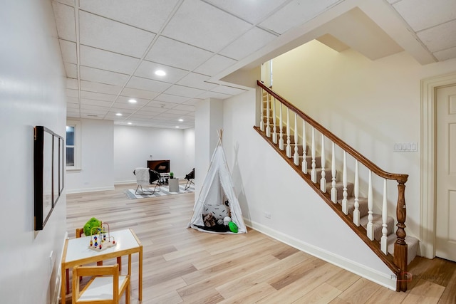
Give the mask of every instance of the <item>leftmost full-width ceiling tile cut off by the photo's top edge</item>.
M 80 0 L 79 6 L 109 19 L 157 33 L 177 4 L 177 0 Z

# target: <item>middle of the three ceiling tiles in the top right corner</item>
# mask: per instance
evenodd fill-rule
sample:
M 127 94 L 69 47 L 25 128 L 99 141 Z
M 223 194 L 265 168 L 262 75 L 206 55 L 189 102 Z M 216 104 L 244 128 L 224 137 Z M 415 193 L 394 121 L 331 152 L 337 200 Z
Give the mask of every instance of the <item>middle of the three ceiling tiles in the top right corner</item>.
M 432 53 L 455 47 L 456 20 L 420 31 L 417 35 Z

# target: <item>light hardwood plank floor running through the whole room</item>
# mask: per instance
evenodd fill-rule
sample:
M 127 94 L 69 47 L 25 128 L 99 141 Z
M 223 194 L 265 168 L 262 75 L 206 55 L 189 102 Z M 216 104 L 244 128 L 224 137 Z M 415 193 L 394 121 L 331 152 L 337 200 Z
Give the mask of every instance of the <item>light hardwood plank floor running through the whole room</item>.
M 142 303 L 456 303 L 456 263 L 416 258 L 410 289 L 397 293 L 252 229 L 187 229 L 193 193 L 128 199 L 133 187 L 68 194 L 67 231 L 73 238 L 92 216 L 132 228 L 144 250 Z M 139 303 L 137 263 L 134 255 L 131 303 Z

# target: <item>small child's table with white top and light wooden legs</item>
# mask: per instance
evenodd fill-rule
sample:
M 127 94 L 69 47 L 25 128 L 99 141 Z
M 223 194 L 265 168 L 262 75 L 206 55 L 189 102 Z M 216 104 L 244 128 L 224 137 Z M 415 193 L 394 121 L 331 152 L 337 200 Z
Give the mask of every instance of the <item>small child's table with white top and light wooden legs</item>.
M 88 248 L 90 236 L 78 239 L 66 239 L 62 255 L 61 303 L 65 303 L 66 298 L 65 282 L 67 268 L 128 255 L 128 274 L 131 276 L 132 253 L 138 253 L 138 300 L 142 300 L 142 244 L 132 229 L 111 231 L 110 236 L 114 237 L 116 244 L 103 251 L 95 251 Z

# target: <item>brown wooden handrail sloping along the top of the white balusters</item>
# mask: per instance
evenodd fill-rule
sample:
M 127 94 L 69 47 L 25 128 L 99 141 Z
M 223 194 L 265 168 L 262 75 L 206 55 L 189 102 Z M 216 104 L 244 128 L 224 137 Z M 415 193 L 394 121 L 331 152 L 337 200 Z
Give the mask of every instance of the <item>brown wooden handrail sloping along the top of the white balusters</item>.
M 281 103 L 286 105 L 286 107 L 288 107 L 290 110 L 293 110 L 294 112 L 296 112 L 302 119 L 306 120 L 306 122 L 309 122 L 309 124 L 311 126 L 315 127 L 316 130 L 321 132 L 321 134 L 325 135 L 325 137 L 328 137 L 330 140 L 332 140 L 334 143 L 336 143 L 336 145 L 341 147 L 342 150 L 345 150 L 348 154 L 351 154 L 351 156 L 353 156 L 359 162 L 361 162 L 366 167 L 368 167 L 368 169 L 371 169 L 371 171 L 373 173 L 377 174 L 379 177 L 383 177 L 385 179 L 394 179 L 394 180 L 398 181 L 398 183 L 400 183 L 400 184 L 405 184 L 405 182 L 407 182 L 408 174 L 390 173 L 390 172 L 384 171 L 383 169 L 380 169 L 380 167 L 378 167 L 376 164 L 371 162 L 371 160 L 364 157 L 363 154 L 361 154 L 360 152 L 353 149 L 353 147 L 346 144 L 346 142 L 343 142 L 343 140 L 341 140 L 339 137 L 334 135 L 331 131 L 326 129 L 326 127 L 323 127 L 318 122 L 316 122 L 313 118 L 309 117 L 309 115 L 306 115 L 304 112 L 302 112 L 301 110 L 296 108 L 294 105 L 289 103 L 288 100 L 281 97 L 281 95 L 275 93 L 273 90 L 266 87 L 266 85 L 261 83 L 261 81 L 257 80 L 257 84 L 259 85 L 259 87 L 266 90 L 267 93 L 274 96 L 274 98 L 276 98 L 276 100 L 279 100 Z

